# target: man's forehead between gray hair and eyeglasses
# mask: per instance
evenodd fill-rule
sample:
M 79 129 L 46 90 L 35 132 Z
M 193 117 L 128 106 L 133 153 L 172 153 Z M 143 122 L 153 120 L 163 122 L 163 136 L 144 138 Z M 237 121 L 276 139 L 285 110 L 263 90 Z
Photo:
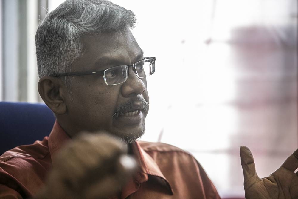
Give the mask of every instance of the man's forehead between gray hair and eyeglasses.
M 84 53 L 77 62 L 78 64 L 84 62 L 85 66 L 91 66 L 91 68 L 92 66 L 107 64 L 107 62 L 111 64 L 131 64 L 138 61 L 136 59 L 143 55 L 130 31 L 121 34 L 107 32 L 84 36 L 82 42 Z M 90 69 L 90 67 L 88 68 Z

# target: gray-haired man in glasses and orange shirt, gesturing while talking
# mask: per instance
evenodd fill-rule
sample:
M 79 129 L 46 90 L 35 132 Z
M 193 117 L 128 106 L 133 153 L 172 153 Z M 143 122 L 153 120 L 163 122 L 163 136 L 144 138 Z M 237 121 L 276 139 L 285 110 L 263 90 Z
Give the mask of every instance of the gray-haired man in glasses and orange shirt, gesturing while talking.
M 57 120 L 43 141 L 0 157 L 0 198 L 220 198 L 190 154 L 136 142 L 155 58 L 143 57 L 135 21 L 104 0 L 68 0 L 46 16 L 36 33 L 38 91 Z M 297 153 L 260 179 L 241 147 L 246 197 L 298 197 Z

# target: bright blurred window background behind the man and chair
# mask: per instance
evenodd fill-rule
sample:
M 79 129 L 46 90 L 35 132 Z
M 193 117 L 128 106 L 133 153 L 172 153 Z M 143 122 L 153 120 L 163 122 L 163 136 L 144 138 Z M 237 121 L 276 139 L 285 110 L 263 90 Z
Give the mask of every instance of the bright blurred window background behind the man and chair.
M 35 31 L 62 2 L 0 1 L 0 101 L 42 102 Z M 297 148 L 297 0 L 113 2 L 156 57 L 141 140 L 192 153 L 222 197 L 244 196 L 241 145 L 262 177 Z

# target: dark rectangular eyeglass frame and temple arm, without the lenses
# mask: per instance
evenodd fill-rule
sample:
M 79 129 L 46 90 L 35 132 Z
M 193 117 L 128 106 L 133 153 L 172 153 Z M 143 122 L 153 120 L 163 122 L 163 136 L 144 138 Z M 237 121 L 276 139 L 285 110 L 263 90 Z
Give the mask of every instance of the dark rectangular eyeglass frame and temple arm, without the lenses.
M 131 68 L 133 69 L 133 71 L 134 71 L 134 73 L 136 74 L 137 77 L 139 77 L 139 78 L 144 78 L 144 77 L 140 77 L 139 74 L 137 73 L 137 71 L 136 71 L 136 64 L 139 63 L 139 62 L 141 62 L 141 61 L 144 61 L 145 59 L 152 59 L 152 60 L 153 60 L 153 62 L 152 62 L 152 71 L 153 71 L 152 74 L 153 74 L 153 73 L 155 72 L 155 57 L 144 57 L 144 59 L 141 59 L 141 60 L 139 60 L 139 61 L 137 61 L 137 62 L 135 62 L 135 63 L 133 63 L 133 64 L 131 64 L 131 65 L 125 65 L 125 64 L 122 64 L 122 65 L 117 65 L 117 66 L 128 66 L 128 75 L 129 75 L 129 67 L 131 67 Z M 105 71 L 107 71 L 107 70 L 109 70 L 109 69 L 111 69 L 111 68 L 117 67 L 117 66 L 112 66 L 112 67 L 110 67 L 110 68 L 106 68 L 106 69 L 101 70 L 101 71 L 86 71 L 86 72 L 62 73 L 62 74 L 53 75 L 53 77 L 72 76 L 72 75 L 75 75 L 75 76 L 82 76 L 82 75 L 98 75 L 98 74 L 100 74 L 100 75 L 103 75 L 103 77 L 104 77 L 103 79 L 105 80 L 105 84 L 106 84 L 106 85 L 109 85 L 109 86 L 111 86 L 111 85 L 117 85 L 117 84 L 122 84 L 122 83 L 126 82 L 127 79 L 126 79 L 124 82 L 121 82 L 121 83 L 117 83 L 117 84 L 108 84 L 108 83 L 106 82 L 106 78 L 105 78 L 105 76 L 104 76 Z M 128 77 L 128 75 L 127 75 L 127 77 Z M 145 77 L 146 77 L 146 76 L 145 76 Z

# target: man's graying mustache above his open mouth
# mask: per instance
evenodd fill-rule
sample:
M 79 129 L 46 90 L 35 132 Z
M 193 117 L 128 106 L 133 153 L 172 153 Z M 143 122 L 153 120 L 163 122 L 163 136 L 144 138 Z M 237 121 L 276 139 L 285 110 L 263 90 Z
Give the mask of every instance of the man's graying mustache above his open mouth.
M 114 111 L 113 119 L 119 117 L 122 113 L 126 113 L 128 111 L 140 109 L 148 111 L 149 103 L 142 97 L 131 98 L 127 102 L 120 104 Z

